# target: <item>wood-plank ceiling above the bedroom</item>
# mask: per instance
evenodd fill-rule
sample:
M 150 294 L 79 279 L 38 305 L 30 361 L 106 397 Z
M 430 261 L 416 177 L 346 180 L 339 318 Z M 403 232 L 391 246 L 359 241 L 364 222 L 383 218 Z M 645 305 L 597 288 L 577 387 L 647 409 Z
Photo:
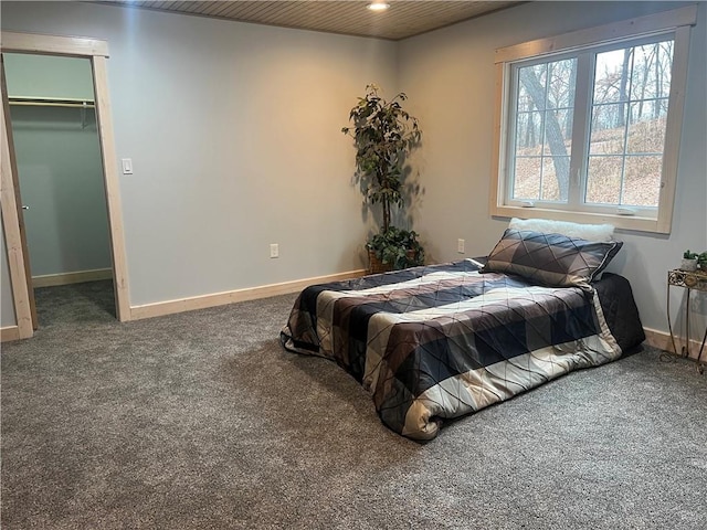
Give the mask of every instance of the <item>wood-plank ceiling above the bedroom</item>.
M 368 1 L 199 1 L 104 0 L 101 3 L 211 17 L 282 28 L 324 31 L 398 41 L 463 20 L 525 3 L 521 1 L 388 0 L 390 9 L 373 12 Z

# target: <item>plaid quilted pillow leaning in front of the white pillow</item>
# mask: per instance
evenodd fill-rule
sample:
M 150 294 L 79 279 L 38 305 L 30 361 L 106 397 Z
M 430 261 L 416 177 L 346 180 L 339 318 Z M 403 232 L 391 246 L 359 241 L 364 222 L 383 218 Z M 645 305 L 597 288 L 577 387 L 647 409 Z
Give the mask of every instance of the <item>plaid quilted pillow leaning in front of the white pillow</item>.
M 601 273 L 623 245 L 562 234 L 507 229 L 488 255 L 484 273 L 517 274 L 551 287 L 581 287 Z

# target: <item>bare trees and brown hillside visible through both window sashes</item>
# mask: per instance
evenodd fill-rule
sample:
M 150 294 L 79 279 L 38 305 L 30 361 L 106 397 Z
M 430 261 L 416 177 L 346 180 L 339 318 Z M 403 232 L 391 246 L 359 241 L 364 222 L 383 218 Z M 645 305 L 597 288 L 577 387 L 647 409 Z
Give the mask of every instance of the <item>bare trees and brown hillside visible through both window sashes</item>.
M 578 55 L 579 56 L 579 55 Z M 583 202 L 658 204 L 673 41 L 595 53 Z M 567 202 L 578 57 L 517 70 L 513 198 Z M 584 112 L 579 109 L 579 112 Z

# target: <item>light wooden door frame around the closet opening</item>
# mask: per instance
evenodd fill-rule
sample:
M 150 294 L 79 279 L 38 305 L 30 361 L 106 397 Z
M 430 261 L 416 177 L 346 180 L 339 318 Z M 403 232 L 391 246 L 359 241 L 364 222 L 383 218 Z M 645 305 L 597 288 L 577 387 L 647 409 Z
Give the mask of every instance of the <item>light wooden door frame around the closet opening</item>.
M 41 55 L 62 55 L 91 60 L 96 109 L 96 123 L 101 144 L 103 178 L 106 190 L 108 211 L 108 232 L 110 235 L 110 254 L 113 259 L 113 284 L 116 300 L 116 316 L 119 321 L 130 320 L 130 305 L 127 278 L 127 259 L 123 232 L 123 210 L 120 206 L 120 187 L 116 163 L 115 139 L 113 136 L 113 118 L 108 98 L 108 78 L 106 59 L 108 44 L 106 41 L 85 38 L 41 35 L 3 31 L 0 35 L 0 53 L 33 53 Z M 3 98 L 7 97 L 3 94 Z M 0 106 L 2 108 L 3 106 Z M 21 204 L 15 199 L 13 168 L 10 165 L 10 146 L 8 142 L 8 117 L 2 114 L 2 151 L 0 166 L 2 172 L 2 224 L 7 243 L 10 282 L 14 301 L 15 320 L 19 338 L 33 335 L 30 308 L 28 278 L 24 273 L 27 256 L 22 251 L 20 220 Z

